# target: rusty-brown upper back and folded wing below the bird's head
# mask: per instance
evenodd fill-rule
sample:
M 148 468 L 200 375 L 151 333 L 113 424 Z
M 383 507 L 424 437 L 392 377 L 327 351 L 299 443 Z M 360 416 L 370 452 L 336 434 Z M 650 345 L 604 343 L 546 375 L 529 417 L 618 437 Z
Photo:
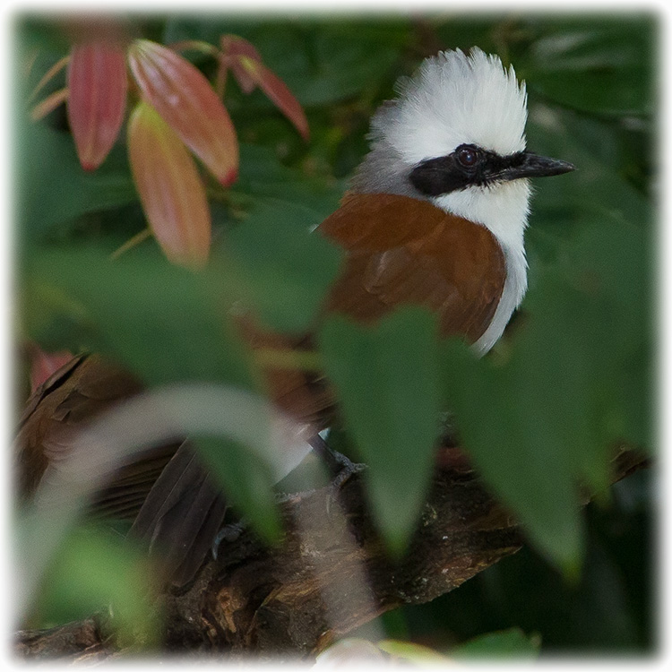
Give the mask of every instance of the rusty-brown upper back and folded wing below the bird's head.
M 444 336 L 486 331 L 506 277 L 487 228 L 408 196 L 351 194 L 318 230 L 348 252 L 328 311 L 369 323 L 415 303 L 439 315 Z

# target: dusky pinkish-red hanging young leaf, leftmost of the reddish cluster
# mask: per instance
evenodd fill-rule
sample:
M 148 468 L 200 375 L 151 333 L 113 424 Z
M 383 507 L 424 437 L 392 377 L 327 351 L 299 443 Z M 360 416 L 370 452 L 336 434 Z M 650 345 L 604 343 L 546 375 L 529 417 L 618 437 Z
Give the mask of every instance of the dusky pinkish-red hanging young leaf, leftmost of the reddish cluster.
M 111 42 L 76 45 L 67 73 L 68 120 L 84 170 L 106 159 L 119 134 L 128 79 L 124 50 Z

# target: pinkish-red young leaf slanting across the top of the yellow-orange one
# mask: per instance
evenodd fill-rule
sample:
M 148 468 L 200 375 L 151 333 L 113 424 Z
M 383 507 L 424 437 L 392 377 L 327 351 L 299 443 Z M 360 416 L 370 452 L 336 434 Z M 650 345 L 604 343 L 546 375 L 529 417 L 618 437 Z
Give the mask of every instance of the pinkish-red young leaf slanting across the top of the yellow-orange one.
M 136 39 L 129 64 L 142 95 L 223 185 L 237 177 L 238 143 L 224 105 L 202 73 L 182 56 Z

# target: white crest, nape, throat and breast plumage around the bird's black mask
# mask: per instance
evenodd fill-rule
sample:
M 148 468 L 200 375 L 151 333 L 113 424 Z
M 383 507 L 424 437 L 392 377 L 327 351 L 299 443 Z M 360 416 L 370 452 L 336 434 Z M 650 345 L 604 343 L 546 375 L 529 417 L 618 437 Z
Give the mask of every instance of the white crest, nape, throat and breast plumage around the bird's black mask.
M 506 156 L 525 149 L 527 94 L 513 67 L 473 47 L 427 58 L 398 86 L 399 98 L 375 113 L 371 151 L 358 168 L 352 189 L 360 193 L 401 194 L 433 202 L 444 211 L 487 227 L 504 252 L 506 281 L 495 316 L 474 344 L 486 352 L 504 332 L 527 289 L 523 233 L 530 183 L 521 178 L 469 187 L 439 196 L 420 194 L 410 171 L 426 159 L 475 144 Z

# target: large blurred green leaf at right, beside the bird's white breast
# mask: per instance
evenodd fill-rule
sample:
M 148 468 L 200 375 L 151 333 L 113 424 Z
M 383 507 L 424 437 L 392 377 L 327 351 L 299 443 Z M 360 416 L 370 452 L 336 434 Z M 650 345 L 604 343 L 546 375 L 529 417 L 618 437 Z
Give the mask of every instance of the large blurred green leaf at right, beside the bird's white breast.
M 616 445 L 645 438 L 650 419 L 636 398 L 650 369 L 642 229 L 595 222 L 573 243 L 563 263 L 538 270 L 529 314 L 499 358 L 477 361 L 451 345 L 444 362 L 448 403 L 478 469 L 568 569 L 581 548 L 577 484 L 604 490 Z

